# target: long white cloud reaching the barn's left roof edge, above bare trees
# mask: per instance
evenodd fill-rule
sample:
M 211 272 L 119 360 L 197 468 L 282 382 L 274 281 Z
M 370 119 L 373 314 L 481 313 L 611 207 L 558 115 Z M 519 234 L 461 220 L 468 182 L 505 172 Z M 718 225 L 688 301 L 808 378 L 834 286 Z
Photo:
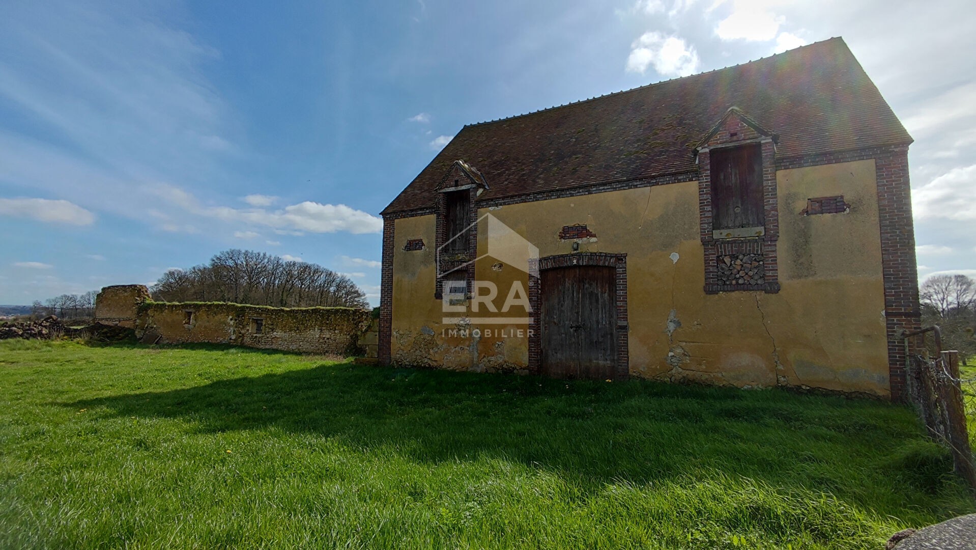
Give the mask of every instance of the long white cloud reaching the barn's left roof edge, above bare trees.
M 321 204 L 306 200 L 273 211 L 264 208 L 242 209 L 229 206 L 204 206 L 190 193 L 166 184 L 157 184 L 148 187 L 147 190 L 197 216 L 224 222 L 245 222 L 266 226 L 280 234 L 301 235 L 304 234 L 302 232 L 359 234 L 383 231 L 383 220 L 345 204 Z

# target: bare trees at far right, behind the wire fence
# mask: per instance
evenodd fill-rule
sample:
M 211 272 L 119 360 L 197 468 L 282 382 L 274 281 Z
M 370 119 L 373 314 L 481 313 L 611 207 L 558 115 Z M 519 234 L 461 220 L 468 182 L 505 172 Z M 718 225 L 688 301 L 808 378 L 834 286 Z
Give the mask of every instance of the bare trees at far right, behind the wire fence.
M 922 326 L 942 329 L 942 349 L 960 359 L 976 356 L 976 280 L 966 275 L 933 275 L 918 288 Z

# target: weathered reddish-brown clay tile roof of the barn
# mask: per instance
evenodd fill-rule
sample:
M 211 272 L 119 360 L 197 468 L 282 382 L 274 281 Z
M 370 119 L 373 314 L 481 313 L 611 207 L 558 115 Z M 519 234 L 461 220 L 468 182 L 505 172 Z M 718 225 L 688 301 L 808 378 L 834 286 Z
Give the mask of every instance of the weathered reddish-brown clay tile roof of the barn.
M 841 38 L 751 63 L 465 126 L 384 214 L 430 209 L 463 158 L 479 201 L 696 170 L 694 148 L 736 106 L 775 132 L 777 156 L 907 145 L 908 132 Z

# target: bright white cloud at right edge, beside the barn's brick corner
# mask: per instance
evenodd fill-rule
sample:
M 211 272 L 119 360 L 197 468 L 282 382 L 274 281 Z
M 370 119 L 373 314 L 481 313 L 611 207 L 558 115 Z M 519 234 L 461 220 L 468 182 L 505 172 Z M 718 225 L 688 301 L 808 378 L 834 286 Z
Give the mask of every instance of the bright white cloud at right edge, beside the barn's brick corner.
M 976 221 L 976 164 L 954 168 L 912 191 L 915 218 Z

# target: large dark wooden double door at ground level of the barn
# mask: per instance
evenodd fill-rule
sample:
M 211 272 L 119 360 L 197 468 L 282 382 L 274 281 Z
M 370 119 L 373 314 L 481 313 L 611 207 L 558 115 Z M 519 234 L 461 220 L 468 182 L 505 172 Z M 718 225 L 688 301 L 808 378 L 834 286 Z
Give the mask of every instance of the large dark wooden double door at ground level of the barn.
M 616 270 L 542 272 L 542 369 L 557 378 L 613 378 L 617 365 Z

